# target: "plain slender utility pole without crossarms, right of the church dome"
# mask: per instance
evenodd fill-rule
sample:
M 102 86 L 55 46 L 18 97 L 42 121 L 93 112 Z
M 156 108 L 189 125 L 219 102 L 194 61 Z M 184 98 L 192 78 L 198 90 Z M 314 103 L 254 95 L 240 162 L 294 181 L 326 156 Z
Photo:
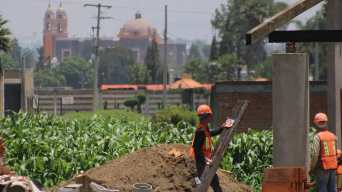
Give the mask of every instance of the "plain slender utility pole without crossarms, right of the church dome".
M 168 73 L 168 64 L 167 64 L 167 53 L 168 53 L 168 6 L 165 5 L 165 29 L 164 29 L 164 68 L 163 68 L 163 106 L 166 107 L 166 95 L 167 95 L 167 73 Z

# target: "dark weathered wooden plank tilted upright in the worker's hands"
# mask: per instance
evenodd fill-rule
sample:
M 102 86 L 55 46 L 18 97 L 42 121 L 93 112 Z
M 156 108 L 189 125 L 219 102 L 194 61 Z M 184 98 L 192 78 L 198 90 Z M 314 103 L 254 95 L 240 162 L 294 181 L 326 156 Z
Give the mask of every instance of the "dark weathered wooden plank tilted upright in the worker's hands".
M 237 104 L 235 105 L 231 115 L 229 115 L 229 118 L 234 119 L 235 123 L 229 129 L 223 129 L 219 141 L 216 143 L 215 149 L 213 151 L 213 162 L 210 166 L 206 166 L 200 179 L 201 183 L 195 188 L 196 192 L 206 192 L 209 189 L 210 182 L 219 168 L 223 155 L 232 140 L 236 128 L 239 126 L 242 116 L 244 116 L 248 104 L 249 101 L 246 100 L 237 101 Z

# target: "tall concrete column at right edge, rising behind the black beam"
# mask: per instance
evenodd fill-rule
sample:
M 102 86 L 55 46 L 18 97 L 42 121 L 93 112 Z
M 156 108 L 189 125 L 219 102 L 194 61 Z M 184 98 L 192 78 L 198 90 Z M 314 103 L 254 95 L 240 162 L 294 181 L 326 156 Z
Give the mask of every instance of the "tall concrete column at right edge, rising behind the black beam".
M 342 29 L 342 3 L 329 0 L 327 4 L 328 29 Z M 341 42 L 327 43 L 327 112 L 328 129 L 337 136 L 337 147 L 341 149 L 341 101 L 342 85 Z

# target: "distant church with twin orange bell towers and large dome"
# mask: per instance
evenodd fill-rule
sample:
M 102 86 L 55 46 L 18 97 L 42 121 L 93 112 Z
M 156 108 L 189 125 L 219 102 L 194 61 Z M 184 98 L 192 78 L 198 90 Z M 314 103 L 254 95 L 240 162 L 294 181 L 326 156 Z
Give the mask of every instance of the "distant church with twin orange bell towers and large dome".
M 60 62 L 68 56 L 78 56 L 87 45 L 92 43 L 92 37 L 68 38 L 68 19 L 62 3 L 54 14 L 51 5 L 44 15 L 43 46 L 45 57 L 56 57 Z M 161 61 L 164 61 L 164 45 L 157 29 L 147 20 L 142 18 L 141 13 L 137 12 L 135 18 L 128 21 L 120 29 L 116 37 L 100 37 L 100 48 L 115 47 L 115 45 L 125 46 L 133 51 L 136 61 L 142 63 L 146 56 L 147 47 L 152 42 L 155 35 Z M 167 65 L 169 70 L 173 70 L 174 76 L 180 76 L 182 68 L 186 62 L 186 44 L 168 43 L 167 44 Z

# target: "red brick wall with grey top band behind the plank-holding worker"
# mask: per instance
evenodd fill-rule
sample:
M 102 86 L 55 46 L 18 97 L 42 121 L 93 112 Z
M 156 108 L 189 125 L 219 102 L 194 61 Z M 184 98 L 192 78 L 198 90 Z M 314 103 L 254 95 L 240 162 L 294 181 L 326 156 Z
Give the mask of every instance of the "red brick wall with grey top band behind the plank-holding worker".
M 310 82 L 310 126 L 318 112 L 327 112 L 326 81 Z M 213 125 L 221 125 L 237 100 L 250 100 L 238 132 L 248 128 L 258 131 L 272 127 L 272 82 L 215 82 L 212 86 Z M 286 110 L 286 109 L 284 109 Z

